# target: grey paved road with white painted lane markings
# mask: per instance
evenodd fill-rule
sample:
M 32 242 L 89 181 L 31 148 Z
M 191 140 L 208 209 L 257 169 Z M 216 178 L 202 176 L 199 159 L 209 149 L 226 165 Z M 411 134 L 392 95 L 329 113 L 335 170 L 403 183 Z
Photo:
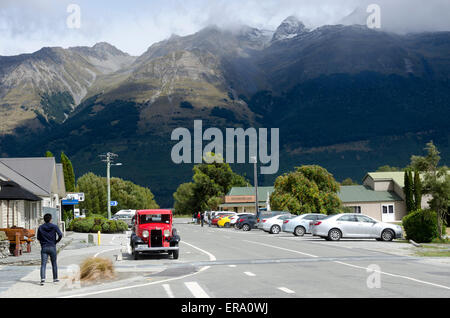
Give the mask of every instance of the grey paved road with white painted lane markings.
M 0 297 L 13 297 L 25 284 L 31 297 L 42 296 L 42 288 L 47 297 L 450 297 L 450 262 L 405 256 L 402 243 L 327 242 L 193 224 L 177 229 L 178 260 L 134 261 L 124 253 L 115 263 L 123 280 L 75 290 L 31 286 L 36 269 Z M 87 255 L 114 258 L 127 238 L 104 240 L 101 247 L 63 251 L 62 266 Z

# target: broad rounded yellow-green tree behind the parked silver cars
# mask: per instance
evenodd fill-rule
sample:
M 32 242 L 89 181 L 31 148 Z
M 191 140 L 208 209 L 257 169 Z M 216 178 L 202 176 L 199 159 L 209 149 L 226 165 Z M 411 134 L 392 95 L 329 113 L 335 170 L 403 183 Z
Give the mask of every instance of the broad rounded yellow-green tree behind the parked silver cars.
M 295 214 L 332 214 L 342 210 L 337 196 L 339 183 L 320 166 L 296 167 L 275 180 L 270 196 L 273 210 L 287 210 Z

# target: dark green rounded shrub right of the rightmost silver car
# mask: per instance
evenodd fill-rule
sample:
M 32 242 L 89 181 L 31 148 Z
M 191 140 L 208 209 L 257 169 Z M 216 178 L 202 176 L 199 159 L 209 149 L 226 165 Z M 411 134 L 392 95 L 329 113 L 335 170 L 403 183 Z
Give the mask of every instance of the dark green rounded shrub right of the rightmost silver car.
M 429 243 L 439 237 L 437 215 L 431 210 L 417 210 L 403 218 L 406 238 L 417 243 Z

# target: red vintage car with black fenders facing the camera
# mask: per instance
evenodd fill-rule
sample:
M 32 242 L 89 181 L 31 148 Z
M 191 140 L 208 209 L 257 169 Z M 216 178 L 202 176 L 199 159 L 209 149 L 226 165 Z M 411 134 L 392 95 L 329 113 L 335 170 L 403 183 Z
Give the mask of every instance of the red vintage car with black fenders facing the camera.
M 180 236 L 172 227 L 171 210 L 139 210 L 133 217 L 133 232 L 130 238 L 134 259 L 140 253 L 169 253 L 178 259 Z

